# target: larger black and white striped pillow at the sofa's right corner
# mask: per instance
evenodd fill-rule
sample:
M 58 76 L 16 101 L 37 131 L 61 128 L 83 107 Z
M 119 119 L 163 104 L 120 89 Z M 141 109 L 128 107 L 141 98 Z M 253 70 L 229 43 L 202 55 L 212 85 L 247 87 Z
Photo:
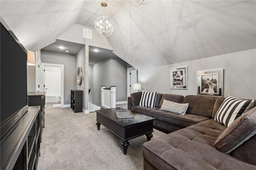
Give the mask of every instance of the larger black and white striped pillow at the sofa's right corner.
M 254 100 L 242 100 L 228 95 L 218 109 L 214 119 L 226 127 L 254 106 Z

